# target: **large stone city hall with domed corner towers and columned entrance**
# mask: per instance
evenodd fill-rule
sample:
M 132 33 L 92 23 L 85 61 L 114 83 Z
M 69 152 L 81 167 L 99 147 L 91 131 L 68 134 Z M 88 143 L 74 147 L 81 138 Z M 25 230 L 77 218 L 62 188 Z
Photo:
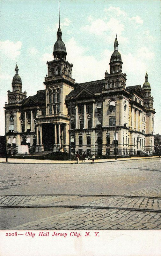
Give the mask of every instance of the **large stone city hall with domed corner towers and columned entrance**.
M 46 89 L 29 97 L 22 92 L 16 64 L 4 107 L 8 154 L 17 154 L 26 141 L 31 154 L 70 148 L 73 154 L 108 157 L 115 154 L 115 140 L 117 155 L 153 154 L 155 110 L 148 74 L 143 86 L 126 86 L 118 45 L 116 36 L 105 78 L 78 84 L 66 60 L 59 24 L 54 60 L 47 62 Z

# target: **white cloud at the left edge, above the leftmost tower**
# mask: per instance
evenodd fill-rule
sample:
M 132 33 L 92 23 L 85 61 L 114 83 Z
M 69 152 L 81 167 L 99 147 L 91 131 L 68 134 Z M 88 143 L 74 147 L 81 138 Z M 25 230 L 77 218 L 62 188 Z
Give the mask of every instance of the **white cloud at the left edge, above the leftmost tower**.
M 20 55 L 20 49 L 22 42 L 17 41 L 16 43 L 10 40 L 0 41 L 0 52 L 2 55 L 7 56 L 11 60 L 15 60 Z

